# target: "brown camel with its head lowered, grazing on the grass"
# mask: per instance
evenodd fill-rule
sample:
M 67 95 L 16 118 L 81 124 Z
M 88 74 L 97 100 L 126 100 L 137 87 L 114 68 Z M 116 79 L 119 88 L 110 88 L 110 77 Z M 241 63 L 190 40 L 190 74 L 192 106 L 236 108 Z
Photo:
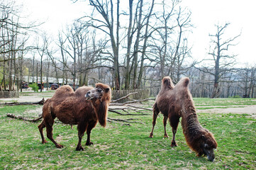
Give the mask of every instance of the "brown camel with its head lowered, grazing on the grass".
M 159 113 L 164 115 L 164 127 L 167 119 L 172 126 L 172 147 L 177 147 L 175 134 L 179 125 L 179 118 L 182 117 L 182 129 L 187 145 L 201 157 L 206 155 L 208 160 L 214 160 L 213 149 L 216 149 L 217 142 L 211 132 L 203 128 L 196 115 L 193 98 L 189 92 L 189 78 L 181 79 L 176 86 L 172 84 L 170 77 L 162 79 L 161 90 L 153 106 L 152 132 L 153 137 L 155 121 Z M 165 127 L 165 137 L 168 137 Z

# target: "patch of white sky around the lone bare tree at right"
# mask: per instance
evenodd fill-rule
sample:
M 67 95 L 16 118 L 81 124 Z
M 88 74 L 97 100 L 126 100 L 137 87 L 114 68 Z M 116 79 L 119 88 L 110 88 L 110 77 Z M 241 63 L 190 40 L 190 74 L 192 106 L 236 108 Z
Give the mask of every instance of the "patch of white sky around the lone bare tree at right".
M 241 33 L 236 40 L 238 45 L 230 48 L 234 55 L 238 55 L 238 63 L 256 64 L 256 1 L 183 0 L 182 4 L 191 10 L 191 21 L 195 26 L 189 37 L 194 56 L 206 56 L 210 42 L 208 35 L 216 33 L 215 25 L 230 23 L 225 33 L 226 38 L 233 38 Z

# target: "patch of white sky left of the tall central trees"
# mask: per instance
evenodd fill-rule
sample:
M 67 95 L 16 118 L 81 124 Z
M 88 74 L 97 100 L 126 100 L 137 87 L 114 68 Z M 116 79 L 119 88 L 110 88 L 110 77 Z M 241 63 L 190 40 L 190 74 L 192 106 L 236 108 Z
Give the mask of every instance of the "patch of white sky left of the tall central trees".
M 87 3 L 71 0 L 17 0 L 23 4 L 23 14 L 30 21 L 44 22 L 40 28 L 48 34 L 56 35 L 67 23 L 82 16 L 87 11 Z

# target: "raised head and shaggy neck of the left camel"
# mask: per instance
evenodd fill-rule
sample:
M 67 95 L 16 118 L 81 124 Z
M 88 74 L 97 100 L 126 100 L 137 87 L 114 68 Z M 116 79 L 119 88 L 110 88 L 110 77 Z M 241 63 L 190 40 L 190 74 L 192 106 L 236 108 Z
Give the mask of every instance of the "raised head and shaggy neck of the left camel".
M 106 117 L 108 115 L 108 106 L 111 101 L 111 89 L 106 84 L 95 84 L 96 87 L 87 91 L 85 97 L 91 101 L 94 111 L 99 120 L 99 124 L 106 126 Z

